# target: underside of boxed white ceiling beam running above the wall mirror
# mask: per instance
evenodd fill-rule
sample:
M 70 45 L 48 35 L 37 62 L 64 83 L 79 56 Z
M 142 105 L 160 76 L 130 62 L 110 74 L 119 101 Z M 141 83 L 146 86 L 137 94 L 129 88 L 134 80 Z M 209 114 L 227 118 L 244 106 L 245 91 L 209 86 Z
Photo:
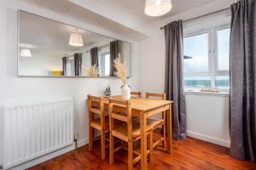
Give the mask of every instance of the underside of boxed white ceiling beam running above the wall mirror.
M 96 26 L 99 28 L 99 30 L 110 31 L 111 33 L 123 35 L 125 37 L 130 37 L 131 39 L 136 39 L 136 40 L 145 38 L 145 35 L 143 35 L 142 32 L 138 32 L 134 29 L 131 29 L 129 26 L 124 26 L 123 24 L 115 20 L 111 20 L 102 14 L 97 14 L 95 11 L 92 11 L 88 8 L 81 7 L 75 3 L 70 2 L 69 0 L 19 0 L 19 1 L 24 4 L 28 4 L 29 5 L 28 8 L 32 8 L 32 7 L 44 8 L 46 10 L 50 10 L 51 12 L 66 16 L 69 19 L 80 20 L 82 23 L 85 23 L 85 25 L 89 27 Z M 92 3 L 94 3 L 96 1 L 99 2 L 101 0 L 81 0 L 81 1 L 84 1 L 84 2 L 91 1 Z M 104 0 L 104 1 L 106 3 L 108 0 Z M 88 3 L 86 2 L 86 4 Z M 35 10 L 33 9 L 30 10 L 28 8 L 24 8 L 24 10 L 31 11 L 31 13 L 33 14 L 41 15 L 40 14 L 41 12 L 37 13 L 35 12 Z M 111 8 L 110 10 L 113 10 L 113 8 Z M 94 31 L 94 30 L 91 30 L 91 31 Z M 114 35 L 111 37 L 114 37 Z

